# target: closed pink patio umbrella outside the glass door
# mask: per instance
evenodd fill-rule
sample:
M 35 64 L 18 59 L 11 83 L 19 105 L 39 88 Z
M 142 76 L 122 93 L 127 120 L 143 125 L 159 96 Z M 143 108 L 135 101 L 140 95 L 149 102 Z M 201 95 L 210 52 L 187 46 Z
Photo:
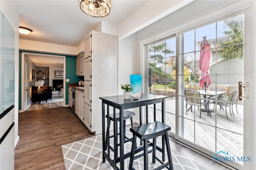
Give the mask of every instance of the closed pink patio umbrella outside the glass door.
M 201 70 L 200 75 L 200 87 L 204 88 L 206 91 L 206 86 L 212 83 L 210 75 L 208 73 L 209 69 L 209 61 L 210 61 L 210 44 L 207 42 L 206 37 L 203 37 L 203 41 L 201 43 L 201 52 L 199 59 L 199 70 Z

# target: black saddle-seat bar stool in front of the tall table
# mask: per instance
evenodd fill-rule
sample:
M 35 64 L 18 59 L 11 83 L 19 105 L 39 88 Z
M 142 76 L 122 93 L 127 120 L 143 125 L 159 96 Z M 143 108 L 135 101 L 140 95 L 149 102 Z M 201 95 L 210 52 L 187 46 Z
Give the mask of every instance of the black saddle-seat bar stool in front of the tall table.
M 162 168 L 168 168 L 168 166 L 173 170 L 173 165 L 172 165 L 172 156 L 171 156 L 171 150 L 170 150 L 170 144 L 169 144 L 169 139 L 168 139 L 168 131 L 171 130 L 170 126 L 161 123 L 159 121 L 155 121 L 150 124 L 138 126 L 138 127 L 131 127 L 130 131 L 132 132 L 133 138 L 132 138 L 132 151 L 131 151 L 131 156 L 130 156 L 130 163 L 129 163 L 129 170 L 134 168 L 132 167 L 133 160 L 140 158 L 144 156 L 144 170 L 148 170 L 148 154 L 152 153 L 152 162 L 155 163 L 156 160 L 158 160 L 162 165 L 156 168 L 157 170 L 160 170 Z M 156 156 L 156 137 L 164 135 L 165 143 L 166 143 L 166 151 L 168 155 L 168 162 L 164 163 L 162 162 L 157 156 Z M 139 154 L 134 156 L 134 154 L 138 153 L 136 151 L 136 137 L 139 137 L 140 139 L 143 140 L 143 149 L 144 153 Z M 152 143 L 148 143 L 149 139 L 153 138 L 153 145 Z M 153 147 L 152 150 L 148 151 L 148 147 Z M 159 147 L 158 147 L 159 148 Z M 165 154 L 162 149 L 158 149 L 162 154 Z

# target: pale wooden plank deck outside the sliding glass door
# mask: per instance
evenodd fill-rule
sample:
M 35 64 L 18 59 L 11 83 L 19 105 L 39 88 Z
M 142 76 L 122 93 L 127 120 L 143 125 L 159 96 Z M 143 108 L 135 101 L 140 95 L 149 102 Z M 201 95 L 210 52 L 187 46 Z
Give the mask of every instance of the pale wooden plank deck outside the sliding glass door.
M 180 129 L 179 137 L 182 137 L 200 147 L 204 147 L 212 152 L 228 151 L 230 155 L 243 155 L 243 105 L 233 106 L 234 115 L 230 115 L 229 107 L 227 108 L 228 119 L 225 110 L 220 110 L 207 115 L 203 112 L 200 118 L 200 110 L 193 106 L 193 111 L 186 113 L 186 101 L 184 100 L 184 115 L 179 112 L 179 121 L 184 123 L 184 129 Z M 210 105 L 213 109 L 214 105 Z M 161 120 L 161 105 L 157 104 L 157 118 Z M 225 109 L 225 107 L 224 107 Z M 166 124 L 171 127 L 171 132 L 176 130 L 176 108 L 175 98 L 166 99 Z M 185 114 L 186 113 L 186 114 Z M 153 115 L 153 109 L 149 109 L 149 114 Z M 217 116 L 216 116 L 217 115 Z M 153 121 L 153 116 L 149 116 Z M 216 126 L 216 128 L 215 128 Z M 217 139 L 217 140 L 215 140 Z M 215 147 L 216 146 L 216 147 Z

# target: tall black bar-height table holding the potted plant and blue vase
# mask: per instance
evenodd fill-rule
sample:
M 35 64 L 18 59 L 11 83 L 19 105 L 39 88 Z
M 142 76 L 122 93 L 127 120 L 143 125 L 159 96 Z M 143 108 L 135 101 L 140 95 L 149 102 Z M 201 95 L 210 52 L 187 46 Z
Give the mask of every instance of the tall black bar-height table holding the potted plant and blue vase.
M 153 94 L 141 94 L 140 99 L 124 99 L 124 95 L 120 96 L 107 96 L 100 97 L 102 100 L 102 162 L 105 162 L 105 159 L 111 164 L 111 166 L 118 170 L 116 163 L 120 162 L 120 169 L 124 170 L 124 159 L 130 157 L 129 153 L 124 154 L 124 143 L 120 142 L 120 156 L 118 157 L 118 131 L 117 131 L 117 121 L 114 121 L 114 160 L 109 156 L 109 147 L 108 153 L 106 153 L 105 148 L 105 105 L 107 105 L 107 121 L 109 120 L 109 106 L 112 106 L 114 119 L 116 119 L 116 109 L 119 109 L 120 121 L 119 121 L 119 137 L 120 141 L 124 141 L 124 110 L 131 109 L 135 107 L 140 107 L 140 125 L 142 125 L 142 106 L 146 106 L 146 123 L 148 123 L 148 105 L 154 104 L 154 121 L 156 121 L 156 104 L 162 104 L 162 123 L 165 123 L 165 99 L 167 96 L 159 96 Z M 107 139 L 109 140 L 109 139 Z M 109 141 L 108 141 L 109 143 Z M 142 142 L 141 142 L 142 145 Z M 142 149 L 143 150 L 143 147 Z M 162 151 L 164 152 L 164 138 L 162 138 Z M 162 159 L 164 160 L 164 154 Z

